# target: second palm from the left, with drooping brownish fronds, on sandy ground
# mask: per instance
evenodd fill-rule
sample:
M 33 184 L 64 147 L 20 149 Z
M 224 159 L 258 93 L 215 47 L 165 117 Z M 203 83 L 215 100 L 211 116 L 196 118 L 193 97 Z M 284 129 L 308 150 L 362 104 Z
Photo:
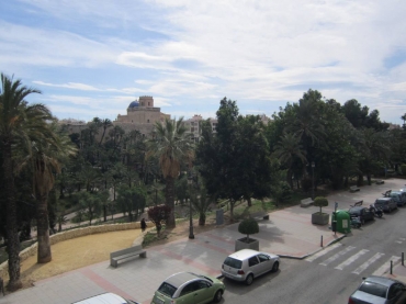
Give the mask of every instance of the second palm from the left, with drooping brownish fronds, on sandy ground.
M 31 144 L 32 153 L 29 154 L 22 167 L 27 166 L 33 174 L 33 192 L 36 200 L 37 223 L 37 262 L 46 263 L 52 260 L 48 221 L 48 193 L 55 184 L 55 173 L 60 173 L 61 164 L 69 156 L 76 154 L 76 148 L 70 138 L 58 133 L 54 123 L 44 130 L 43 138 Z

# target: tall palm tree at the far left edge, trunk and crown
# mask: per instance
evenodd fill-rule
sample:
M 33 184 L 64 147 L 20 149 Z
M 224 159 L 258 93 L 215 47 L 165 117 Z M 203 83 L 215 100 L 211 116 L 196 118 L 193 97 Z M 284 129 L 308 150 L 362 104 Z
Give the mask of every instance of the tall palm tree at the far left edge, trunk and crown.
M 40 90 L 27 88 L 20 79 L 14 80 L 1 74 L 0 94 L 0 140 L 3 148 L 3 174 L 5 180 L 7 202 L 7 237 L 9 254 L 8 290 L 14 291 L 22 286 L 20 280 L 20 241 L 16 224 L 16 201 L 14 187 L 14 161 L 15 149 L 21 146 L 27 147 L 32 138 L 43 136 L 42 130 L 46 128 L 46 120 L 52 115 L 43 104 L 27 105 L 24 100 L 32 93 L 41 93 Z

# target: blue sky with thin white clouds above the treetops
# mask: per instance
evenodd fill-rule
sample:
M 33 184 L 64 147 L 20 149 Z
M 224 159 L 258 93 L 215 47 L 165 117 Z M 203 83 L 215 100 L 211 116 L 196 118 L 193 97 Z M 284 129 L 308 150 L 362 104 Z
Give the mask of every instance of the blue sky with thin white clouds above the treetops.
M 308 89 L 406 113 L 404 0 L 9 0 L 0 71 L 58 119 L 114 121 L 140 95 L 172 117 L 219 101 L 271 116 Z

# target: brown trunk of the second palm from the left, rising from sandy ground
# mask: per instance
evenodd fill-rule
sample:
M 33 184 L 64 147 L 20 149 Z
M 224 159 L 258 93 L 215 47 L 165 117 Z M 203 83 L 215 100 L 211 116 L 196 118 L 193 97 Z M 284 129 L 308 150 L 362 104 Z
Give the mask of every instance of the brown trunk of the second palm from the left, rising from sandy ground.
M 37 262 L 46 263 L 52 260 L 49 241 L 49 219 L 46 194 L 38 195 L 37 198 L 36 225 L 38 239 Z

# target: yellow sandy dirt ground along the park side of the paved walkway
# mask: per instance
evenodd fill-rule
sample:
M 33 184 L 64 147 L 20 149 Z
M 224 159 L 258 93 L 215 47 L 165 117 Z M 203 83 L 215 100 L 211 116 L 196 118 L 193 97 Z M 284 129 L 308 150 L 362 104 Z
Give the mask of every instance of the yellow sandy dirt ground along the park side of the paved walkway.
M 205 226 L 198 226 L 194 221 L 194 234 L 215 228 L 213 219 L 207 219 Z M 153 224 L 148 223 L 149 229 Z M 60 241 L 52 246 L 53 260 L 45 264 L 36 263 L 36 255 L 21 263 L 21 280 L 23 288 L 32 286 L 36 281 L 50 278 L 70 270 L 82 268 L 110 259 L 110 252 L 131 247 L 142 234 L 140 229 L 95 234 Z M 189 222 L 178 223 L 176 228 L 163 230 L 159 240 L 150 246 L 162 245 L 189 236 Z

